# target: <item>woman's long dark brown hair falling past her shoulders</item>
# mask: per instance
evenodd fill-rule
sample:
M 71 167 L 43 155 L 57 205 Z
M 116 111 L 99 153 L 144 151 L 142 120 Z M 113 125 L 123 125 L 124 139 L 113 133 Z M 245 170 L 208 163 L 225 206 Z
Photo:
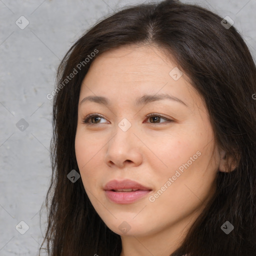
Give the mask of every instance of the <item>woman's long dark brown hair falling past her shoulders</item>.
M 256 67 L 237 30 L 221 20 L 177 0 L 129 6 L 97 22 L 68 50 L 58 67 L 53 99 L 52 177 L 42 242 L 47 240 L 49 255 L 121 252 L 120 236 L 98 216 L 81 178 L 72 183 L 67 174 L 79 172 L 74 139 L 81 82 L 102 52 L 129 44 L 157 46 L 174 57 L 205 101 L 215 142 L 227 159 L 236 160 L 233 171 L 228 166 L 227 172 L 217 172 L 212 199 L 171 255 L 256 255 Z M 94 57 L 86 61 L 88 55 Z M 63 83 L 74 69 L 78 73 Z M 227 220 L 234 226 L 228 235 L 220 228 Z

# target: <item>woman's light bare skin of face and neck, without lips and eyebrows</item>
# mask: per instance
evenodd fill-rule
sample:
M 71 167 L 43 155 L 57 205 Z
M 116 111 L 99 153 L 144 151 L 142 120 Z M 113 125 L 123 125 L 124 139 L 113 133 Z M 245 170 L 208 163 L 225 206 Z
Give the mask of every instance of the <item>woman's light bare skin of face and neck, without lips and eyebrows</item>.
M 172 253 L 214 193 L 217 171 L 224 171 L 225 153 L 214 144 L 203 99 L 184 72 L 177 80 L 169 75 L 176 66 L 156 46 L 122 46 L 99 55 L 81 84 L 76 160 L 93 207 L 121 236 L 121 256 Z M 134 104 L 136 97 L 160 93 L 175 96 L 187 106 L 169 99 L 137 107 Z M 110 105 L 80 104 L 89 95 L 107 97 Z M 83 119 L 90 113 L 104 117 L 90 118 L 91 125 L 86 125 Z M 156 117 L 146 117 L 150 113 Z M 123 118 L 131 124 L 126 131 L 118 126 Z M 198 151 L 197 159 L 166 185 Z M 111 202 L 104 185 L 125 178 L 152 191 L 133 203 Z M 152 198 L 164 184 L 165 191 L 150 201 L 149 196 Z M 123 221 L 130 227 L 126 233 L 118 228 Z

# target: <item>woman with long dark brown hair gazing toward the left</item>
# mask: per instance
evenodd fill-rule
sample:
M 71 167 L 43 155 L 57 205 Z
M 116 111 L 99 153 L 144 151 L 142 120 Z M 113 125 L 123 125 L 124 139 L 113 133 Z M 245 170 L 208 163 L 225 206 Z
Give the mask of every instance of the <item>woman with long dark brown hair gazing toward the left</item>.
M 230 21 L 128 7 L 57 78 L 49 255 L 256 255 L 256 68 Z

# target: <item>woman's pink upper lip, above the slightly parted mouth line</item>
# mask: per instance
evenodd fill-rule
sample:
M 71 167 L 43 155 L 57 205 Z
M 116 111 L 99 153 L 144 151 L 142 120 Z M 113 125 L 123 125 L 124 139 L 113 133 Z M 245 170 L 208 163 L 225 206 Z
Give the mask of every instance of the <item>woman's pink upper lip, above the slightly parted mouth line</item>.
M 139 189 L 139 190 L 152 190 L 149 187 L 143 186 L 136 181 L 130 179 L 123 179 L 123 180 L 110 180 L 104 186 L 104 190 L 117 190 L 117 189 Z

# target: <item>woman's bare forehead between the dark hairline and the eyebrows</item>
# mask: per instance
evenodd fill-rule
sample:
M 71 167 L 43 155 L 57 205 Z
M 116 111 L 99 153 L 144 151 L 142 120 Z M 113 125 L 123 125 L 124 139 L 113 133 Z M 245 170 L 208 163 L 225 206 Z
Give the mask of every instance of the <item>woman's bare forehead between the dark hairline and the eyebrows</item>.
M 178 70 L 169 55 L 153 46 L 129 45 L 111 49 L 93 60 L 83 79 L 80 96 L 100 94 L 111 98 L 114 94 L 115 97 L 130 95 L 135 98 L 145 93 L 170 93 L 183 98 L 188 105 L 201 101 L 189 77 Z M 174 77 L 173 72 L 177 74 Z

